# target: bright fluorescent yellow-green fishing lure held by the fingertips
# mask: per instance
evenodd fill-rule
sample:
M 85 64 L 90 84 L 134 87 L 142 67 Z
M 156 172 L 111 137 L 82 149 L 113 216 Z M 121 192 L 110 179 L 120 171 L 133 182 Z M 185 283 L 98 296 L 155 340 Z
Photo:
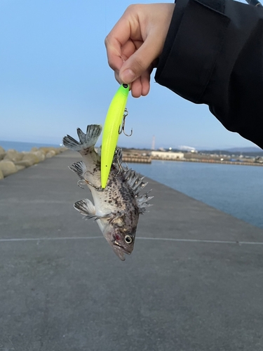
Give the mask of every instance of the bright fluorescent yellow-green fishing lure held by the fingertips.
M 121 133 L 121 129 L 123 129 L 122 120 L 128 93 L 128 84 L 121 84 L 109 105 L 104 122 L 100 164 L 102 189 L 107 185 L 119 134 Z

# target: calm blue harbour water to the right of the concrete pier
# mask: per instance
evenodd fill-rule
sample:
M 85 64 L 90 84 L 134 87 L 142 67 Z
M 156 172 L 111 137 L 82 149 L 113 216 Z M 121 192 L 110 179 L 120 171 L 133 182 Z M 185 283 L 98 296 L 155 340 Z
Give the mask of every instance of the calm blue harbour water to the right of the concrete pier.
M 263 166 L 155 160 L 151 164 L 129 166 L 189 197 L 263 228 Z

